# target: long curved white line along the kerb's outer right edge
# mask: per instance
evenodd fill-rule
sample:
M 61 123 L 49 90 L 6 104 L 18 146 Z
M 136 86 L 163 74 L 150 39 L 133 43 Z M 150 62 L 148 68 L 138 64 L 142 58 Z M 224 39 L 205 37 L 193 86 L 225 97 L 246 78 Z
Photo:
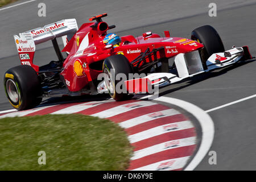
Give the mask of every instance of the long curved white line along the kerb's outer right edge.
M 179 106 L 189 113 L 194 115 L 199 121 L 202 130 L 202 138 L 199 150 L 195 154 L 194 158 L 188 164 L 188 166 L 184 169 L 185 171 L 192 171 L 196 168 L 196 166 L 204 159 L 204 156 L 212 146 L 213 138 L 214 138 L 214 123 L 212 118 L 210 118 L 209 114 L 205 113 L 205 111 L 196 105 L 193 105 L 189 102 L 179 100 L 177 98 L 170 97 L 159 97 L 155 99 L 156 101 L 167 102 L 169 104 L 173 104 Z

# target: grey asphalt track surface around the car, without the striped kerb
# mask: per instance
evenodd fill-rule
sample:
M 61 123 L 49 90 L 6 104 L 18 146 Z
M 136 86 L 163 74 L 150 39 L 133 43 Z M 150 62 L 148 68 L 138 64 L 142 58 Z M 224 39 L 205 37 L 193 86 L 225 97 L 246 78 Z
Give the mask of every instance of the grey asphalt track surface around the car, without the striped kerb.
M 25 1 L 18 1 L 15 4 Z M 145 31 L 189 38 L 194 28 L 210 24 L 220 34 L 226 49 L 249 46 L 256 56 L 255 1 L 214 1 L 217 17 L 208 16 L 210 1 L 40 1 L 46 3 L 46 17 L 38 17 L 39 1 L 0 10 L 0 77 L 19 65 L 13 35 L 65 18 L 77 23 L 88 22 L 93 15 L 108 13 L 105 20 L 117 28 L 119 35 L 141 35 Z M 11 5 L 9 5 L 11 6 Z M 43 65 L 56 56 L 51 44 L 36 47 L 35 63 Z M 256 62 L 214 71 L 181 84 L 160 90 L 162 96 L 179 98 L 209 110 L 229 102 L 252 96 L 256 91 Z M 0 79 L 2 85 L 2 79 Z M 59 100 L 55 100 L 59 101 Z M 238 102 L 209 112 L 215 134 L 210 150 L 217 152 L 217 165 L 208 163 L 209 156 L 196 170 L 256 170 L 255 110 L 256 99 Z M 0 110 L 12 109 L 0 88 Z

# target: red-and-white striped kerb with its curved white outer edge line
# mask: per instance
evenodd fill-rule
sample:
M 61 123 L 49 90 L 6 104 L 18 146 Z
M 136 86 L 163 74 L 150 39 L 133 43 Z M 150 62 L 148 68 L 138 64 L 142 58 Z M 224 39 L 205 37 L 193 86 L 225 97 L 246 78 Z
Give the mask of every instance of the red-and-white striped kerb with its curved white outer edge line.
M 188 102 L 166 97 L 156 100 L 166 105 L 144 100 L 115 102 L 110 99 L 42 106 L 25 111 L 7 110 L 1 112 L 0 118 L 73 113 L 106 118 L 125 129 L 134 147 L 128 170 L 194 169 L 213 141 L 212 119 Z M 176 109 L 168 106 L 170 104 Z M 185 113 L 196 119 L 190 119 Z

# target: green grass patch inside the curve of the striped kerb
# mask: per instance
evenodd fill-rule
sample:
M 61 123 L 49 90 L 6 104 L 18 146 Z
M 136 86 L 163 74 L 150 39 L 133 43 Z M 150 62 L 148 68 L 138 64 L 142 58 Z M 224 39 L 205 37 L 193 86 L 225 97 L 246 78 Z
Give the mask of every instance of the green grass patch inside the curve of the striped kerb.
M 132 154 L 121 127 L 80 114 L 0 119 L 0 141 L 0 170 L 125 170 Z

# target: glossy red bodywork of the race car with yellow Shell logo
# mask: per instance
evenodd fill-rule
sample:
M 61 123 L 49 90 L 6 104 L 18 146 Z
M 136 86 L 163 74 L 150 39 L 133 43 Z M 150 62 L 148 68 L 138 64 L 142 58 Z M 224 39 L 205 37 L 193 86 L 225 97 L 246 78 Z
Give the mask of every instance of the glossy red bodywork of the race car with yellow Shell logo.
M 93 19 L 90 19 L 93 20 Z M 102 30 L 105 27 L 105 30 Z M 68 42 L 62 52 L 69 52 L 60 73 L 71 92 L 80 91 L 88 85 L 89 81 L 97 80 L 102 73 L 102 63 L 106 57 L 123 54 L 131 62 L 147 48 L 152 49 L 164 47 L 164 52 L 157 53 L 157 57 L 173 57 L 179 53 L 187 53 L 203 48 L 203 44 L 186 38 L 170 38 L 170 33 L 165 31 L 165 38 L 158 34 L 143 34 L 138 38 L 132 35 L 122 36 L 119 47 L 106 48 L 103 39 L 109 29 L 105 22 L 84 23 Z

